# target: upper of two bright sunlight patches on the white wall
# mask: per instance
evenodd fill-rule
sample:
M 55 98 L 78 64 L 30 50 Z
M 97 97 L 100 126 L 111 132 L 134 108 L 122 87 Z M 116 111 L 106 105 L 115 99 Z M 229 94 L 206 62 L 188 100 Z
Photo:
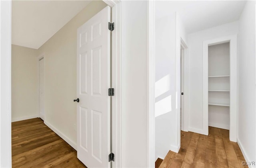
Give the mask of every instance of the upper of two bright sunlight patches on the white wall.
M 166 75 L 155 83 L 155 96 L 158 97 L 170 90 L 170 75 Z

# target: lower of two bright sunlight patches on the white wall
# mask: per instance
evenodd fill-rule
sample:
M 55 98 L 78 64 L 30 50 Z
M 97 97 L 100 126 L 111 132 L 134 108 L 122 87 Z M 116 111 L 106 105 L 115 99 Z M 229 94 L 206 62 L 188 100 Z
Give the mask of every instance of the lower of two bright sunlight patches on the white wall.
M 155 117 L 163 115 L 172 111 L 172 95 L 156 102 L 155 105 Z

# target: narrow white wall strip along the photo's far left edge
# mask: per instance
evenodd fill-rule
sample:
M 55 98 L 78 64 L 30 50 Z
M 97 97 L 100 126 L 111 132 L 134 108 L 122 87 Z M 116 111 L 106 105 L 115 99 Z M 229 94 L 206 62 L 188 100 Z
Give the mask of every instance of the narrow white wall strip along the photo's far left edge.
M 11 1 L 0 1 L 0 167 L 12 167 Z

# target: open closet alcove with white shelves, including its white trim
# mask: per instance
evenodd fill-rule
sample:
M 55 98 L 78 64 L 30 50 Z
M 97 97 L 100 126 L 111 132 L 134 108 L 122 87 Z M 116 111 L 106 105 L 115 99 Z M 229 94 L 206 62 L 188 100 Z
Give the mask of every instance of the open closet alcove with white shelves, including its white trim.
M 203 132 L 229 130 L 237 141 L 237 35 L 203 42 Z

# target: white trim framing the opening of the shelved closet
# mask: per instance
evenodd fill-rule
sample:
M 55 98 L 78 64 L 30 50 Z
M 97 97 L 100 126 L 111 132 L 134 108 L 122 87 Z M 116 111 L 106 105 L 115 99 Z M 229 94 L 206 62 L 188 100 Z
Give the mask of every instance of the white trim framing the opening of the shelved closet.
M 230 141 L 237 142 L 237 34 L 203 42 L 203 134 L 208 135 L 208 46 L 230 42 Z

